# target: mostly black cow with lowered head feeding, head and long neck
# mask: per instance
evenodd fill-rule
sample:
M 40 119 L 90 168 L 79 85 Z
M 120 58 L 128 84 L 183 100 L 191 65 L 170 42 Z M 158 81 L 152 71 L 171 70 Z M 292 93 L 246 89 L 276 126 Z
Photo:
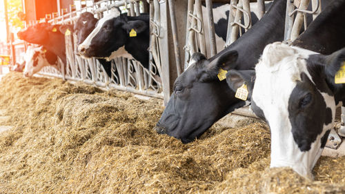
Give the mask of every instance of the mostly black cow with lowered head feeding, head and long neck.
M 268 43 L 284 39 L 286 0 L 276 0 L 268 12 L 242 37 L 214 57 L 192 55 L 188 68 L 175 80 L 173 93 L 155 126 L 188 143 L 200 137 L 218 119 L 246 105 L 235 98 L 226 81 L 217 78 L 224 70 L 251 69 Z

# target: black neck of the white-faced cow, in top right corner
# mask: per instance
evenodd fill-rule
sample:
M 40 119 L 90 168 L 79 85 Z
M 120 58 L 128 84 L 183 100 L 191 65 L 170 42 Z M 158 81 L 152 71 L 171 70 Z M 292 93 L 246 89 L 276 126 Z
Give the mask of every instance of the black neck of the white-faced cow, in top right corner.
M 330 55 L 345 46 L 345 0 L 333 1 L 308 26 L 308 29 L 293 41 L 293 46 Z M 315 41 L 317 40 L 317 41 Z

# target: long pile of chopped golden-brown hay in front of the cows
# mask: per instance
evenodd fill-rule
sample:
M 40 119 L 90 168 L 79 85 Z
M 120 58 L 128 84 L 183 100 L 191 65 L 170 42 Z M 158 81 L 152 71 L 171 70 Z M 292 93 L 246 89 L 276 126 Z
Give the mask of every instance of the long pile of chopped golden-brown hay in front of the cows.
M 269 169 L 262 123 L 215 124 L 191 144 L 152 128 L 158 99 L 10 73 L 0 83 L 0 193 L 344 193 L 345 158 L 322 157 L 315 181 Z

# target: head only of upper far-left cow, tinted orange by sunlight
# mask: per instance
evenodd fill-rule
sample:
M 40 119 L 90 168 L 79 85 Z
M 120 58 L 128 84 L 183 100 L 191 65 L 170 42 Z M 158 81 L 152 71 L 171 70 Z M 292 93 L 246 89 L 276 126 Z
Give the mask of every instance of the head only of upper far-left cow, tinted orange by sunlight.
M 43 44 L 47 43 L 49 33 L 60 33 L 59 25 L 52 25 L 50 23 L 37 23 L 26 29 L 20 30 L 17 35 L 19 39 L 23 39 L 30 43 Z

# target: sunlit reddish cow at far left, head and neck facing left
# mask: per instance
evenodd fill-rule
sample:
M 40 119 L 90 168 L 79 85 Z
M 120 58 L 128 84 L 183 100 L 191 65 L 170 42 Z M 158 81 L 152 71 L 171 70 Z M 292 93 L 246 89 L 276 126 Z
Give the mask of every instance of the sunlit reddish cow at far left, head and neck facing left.
M 61 25 L 37 23 L 18 32 L 19 39 L 43 46 L 57 55 L 66 64 L 65 36 L 60 32 Z

